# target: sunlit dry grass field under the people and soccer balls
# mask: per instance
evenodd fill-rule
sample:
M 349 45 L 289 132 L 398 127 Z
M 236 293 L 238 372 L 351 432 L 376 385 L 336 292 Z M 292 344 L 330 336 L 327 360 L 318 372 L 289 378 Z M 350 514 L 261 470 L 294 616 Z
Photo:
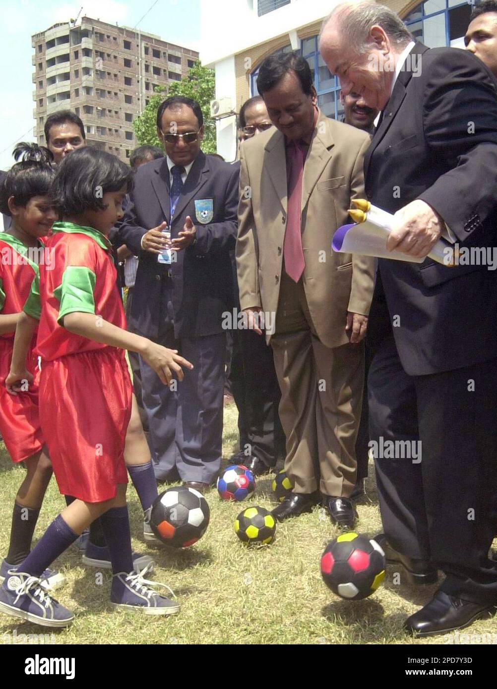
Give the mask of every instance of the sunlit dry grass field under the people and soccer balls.
M 225 407 L 223 456 L 236 449 L 236 407 Z M 0 553 L 6 554 L 12 500 L 23 479 L 3 444 L 0 451 Z M 374 469 L 366 482 L 367 497 L 358 504 L 358 531 L 374 535 L 381 521 L 374 484 Z M 142 513 L 132 485 L 128 489 L 133 546 L 156 559 L 152 575 L 175 591 L 181 612 L 170 618 L 113 613 L 108 604 L 110 572 L 84 568 L 81 555 L 68 551 L 57 566 L 66 582 L 57 598 L 77 618 L 68 630 L 55 631 L 61 644 L 447 644 L 452 637 L 414 640 L 402 630 L 405 617 L 425 604 L 435 586 L 413 588 L 394 584 L 395 568 L 387 569 L 385 584 L 363 601 L 338 599 L 325 587 L 319 559 L 336 528 L 322 509 L 278 524 L 270 546 L 248 549 L 239 542 L 233 522 L 241 509 L 258 504 L 271 509 L 271 478 L 258 480 L 250 502 L 227 503 L 212 489 L 206 495 L 210 526 L 196 545 L 183 551 L 150 548 L 141 539 Z M 52 480 L 41 511 L 37 535 L 64 505 Z M 0 644 L 17 630 L 20 634 L 47 633 L 41 628 L 0 614 Z M 478 621 L 465 630 L 496 635 L 495 620 Z M 6 636 L 4 636 L 6 635 Z M 497 637 L 497 635 L 496 635 Z M 485 638 L 485 637 L 483 637 Z M 487 637 L 489 638 L 489 637 Z M 487 641 L 488 643 L 488 641 Z M 496 641 L 494 641 L 496 643 Z

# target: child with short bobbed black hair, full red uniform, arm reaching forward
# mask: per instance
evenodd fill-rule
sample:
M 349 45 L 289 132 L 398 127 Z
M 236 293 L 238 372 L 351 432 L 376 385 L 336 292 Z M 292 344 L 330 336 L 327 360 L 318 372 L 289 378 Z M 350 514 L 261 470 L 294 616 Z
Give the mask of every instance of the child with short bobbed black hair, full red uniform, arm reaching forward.
M 37 319 L 41 356 L 40 420 L 61 493 L 77 500 L 50 524 L 18 570 L 0 587 L 0 610 L 44 626 L 70 624 L 72 613 L 47 597 L 39 577 L 97 517 L 112 562 L 114 608 L 150 615 L 179 606 L 135 573 L 123 458 L 132 384 L 124 349 L 138 351 L 164 382 L 181 366 L 176 351 L 125 331 L 123 305 L 108 233 L 123 216 L 130 170 L 115 156 L 90 147 L 64 158 L 54 178 L 54 204 L 64 221 L 47 241 L 54 267 L 41 266 L 19 320 L 10 375 L 17 387 L 28 378 L 23 361 Z M 39 294 L 37 288 L 39 287 Z

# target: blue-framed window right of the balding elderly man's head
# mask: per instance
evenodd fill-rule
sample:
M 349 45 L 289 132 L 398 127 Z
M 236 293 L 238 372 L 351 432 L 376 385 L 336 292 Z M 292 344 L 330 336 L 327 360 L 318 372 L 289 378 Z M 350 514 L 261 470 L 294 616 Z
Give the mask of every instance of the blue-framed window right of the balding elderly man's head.
M 472 8 L 458 0 L 426 0 L 409 12 L 404 21 L 414 38 L 429 48 L 463 48 Z

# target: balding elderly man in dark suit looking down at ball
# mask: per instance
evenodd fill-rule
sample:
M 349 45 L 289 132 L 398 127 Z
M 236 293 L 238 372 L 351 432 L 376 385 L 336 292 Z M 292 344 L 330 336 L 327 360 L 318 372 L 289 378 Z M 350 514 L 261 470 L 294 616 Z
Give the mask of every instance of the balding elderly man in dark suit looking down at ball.
M 354 90 L 381 110 L 365 190 L 395 214 L 387 248 L 423 258 L 445 234 L 460 256 L 476 249 L 474 260 L 452 267 L 378 262 L 392 336 L 369 373 L 369 413 L 387 557 L 419 582 L 443 570 L 433 599 L 405 623 L 412 633 L 443 633 L 497 604 L 497 562 L 488 557 L 497 280 L 481 260 L 497 247 L 496 85 L 469 52 L 428 49 L 376 3 L 338 5 L 323 25 L 321 54 L 345 94 Z M 395 457 L 391 445 L 381 456 L 385 441 L 396 443 Z

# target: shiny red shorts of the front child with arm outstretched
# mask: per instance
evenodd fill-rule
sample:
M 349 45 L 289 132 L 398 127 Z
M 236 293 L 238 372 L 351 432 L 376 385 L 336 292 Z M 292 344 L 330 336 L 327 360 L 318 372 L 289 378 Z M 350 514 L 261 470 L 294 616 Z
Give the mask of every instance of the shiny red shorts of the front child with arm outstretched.
M 103 502 L 128 482 L 124 443 L 132 384 L 114 347 L 41 363 L 40 421 L 63 495 Z

